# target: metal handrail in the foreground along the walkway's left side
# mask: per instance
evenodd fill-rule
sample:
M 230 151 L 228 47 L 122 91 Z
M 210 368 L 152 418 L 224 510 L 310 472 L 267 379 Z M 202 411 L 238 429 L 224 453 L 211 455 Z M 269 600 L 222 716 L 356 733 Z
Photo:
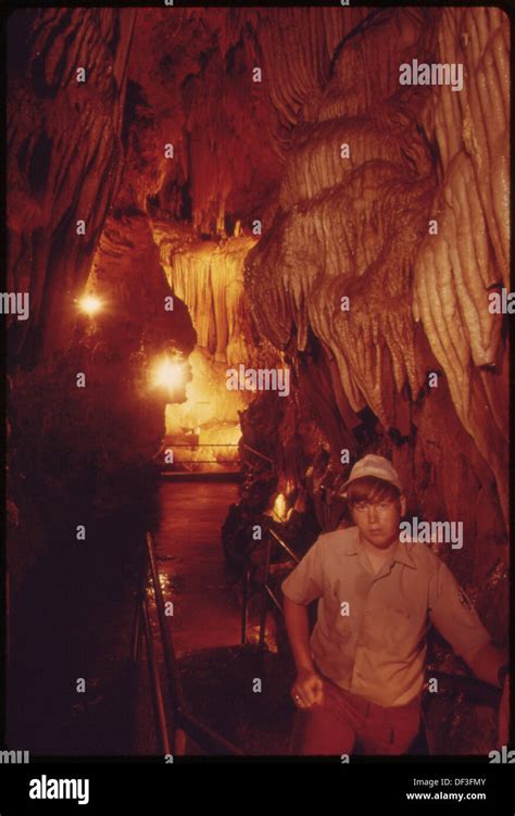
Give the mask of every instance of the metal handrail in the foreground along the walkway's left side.
M 152 582 L 155 607 L 158 612 L 158 624 L 160 640 L 164 657 L 164 674 L 166 679 L 166 691 L 168 701 L 168 711 L 164 703 L 165 694 L 160 680 L 159 665 L 155 655 L 155 649 L 152 642 L 152 632 L 150 627 L 150 615 L 148 606 L 147 587 L 149 578 Z M 141 623 L 143 626 L 141 626 Z M 189 736 L 201 748 L 214 754 L 243 755 L 243 752 L 222 735 L 214 731 L 205 723 L 187 711 L 183 683 L 179 673 L 177 671 L 177 661 L 172 642 L 169 627 L 166 623 L 164 612 L 164 600 L 159 573 L 153 551 L 153 539 L 150 532 L 146 536 L 146 549 L 143 554 L 143 569 L 141 585 L 138 592 L 138 603 L 136 608 L 134 636 L 133 636 L 133 660 L 138 658 L 139 640 L 141 630 L 145 632 L 147 640 L 147 653 L 152 681 L 153 703 L 156 713 L 156 725 L 159 730 L 160 744 L 166 753 L 171 753 L 171 746 L 176 754 L 184 754 L 186 737 Z

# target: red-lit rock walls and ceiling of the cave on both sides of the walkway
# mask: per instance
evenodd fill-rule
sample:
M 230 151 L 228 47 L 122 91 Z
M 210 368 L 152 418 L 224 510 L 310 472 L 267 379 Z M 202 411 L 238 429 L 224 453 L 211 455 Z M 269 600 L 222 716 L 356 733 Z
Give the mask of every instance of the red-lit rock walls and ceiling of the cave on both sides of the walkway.
M 8 317 L 16 563 L 32 538 L 51 547 L 70 474 L 101 507 L 145 470 L 166 403 L 149 367 L 197 346 L 219 379 L 291 371 L 288 400 L 256 393 L 241 413 L 266 456 L 242 517 L 280 492 L 299 540 L 305 519 L 334 529 L 341 450 L 388 455 L 410 513 L 464 522 L 463 552 L 442 556 L 502 641 L 508 341 L 488 293 L 508 281 L 507 17 L 172 11 L 10 17 L 8 288 L 30 293 L 30 319 Z M 463 63 L 463 90 L 400 85 L 415 58 Z M 95 319 L 77 313 L 86 289 L 105 302 Z

